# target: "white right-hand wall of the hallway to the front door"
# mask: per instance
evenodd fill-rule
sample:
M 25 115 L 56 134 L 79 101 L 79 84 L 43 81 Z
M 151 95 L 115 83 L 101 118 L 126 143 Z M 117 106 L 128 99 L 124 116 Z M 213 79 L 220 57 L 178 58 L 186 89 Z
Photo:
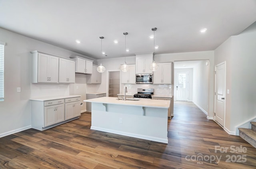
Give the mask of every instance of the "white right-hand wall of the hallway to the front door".
M 208 81 L 209 81 L 209 65 L 207 61 L 199 61 L 194 67 L 193 72 L 193 102 L 203 112 L 208 114 Z

